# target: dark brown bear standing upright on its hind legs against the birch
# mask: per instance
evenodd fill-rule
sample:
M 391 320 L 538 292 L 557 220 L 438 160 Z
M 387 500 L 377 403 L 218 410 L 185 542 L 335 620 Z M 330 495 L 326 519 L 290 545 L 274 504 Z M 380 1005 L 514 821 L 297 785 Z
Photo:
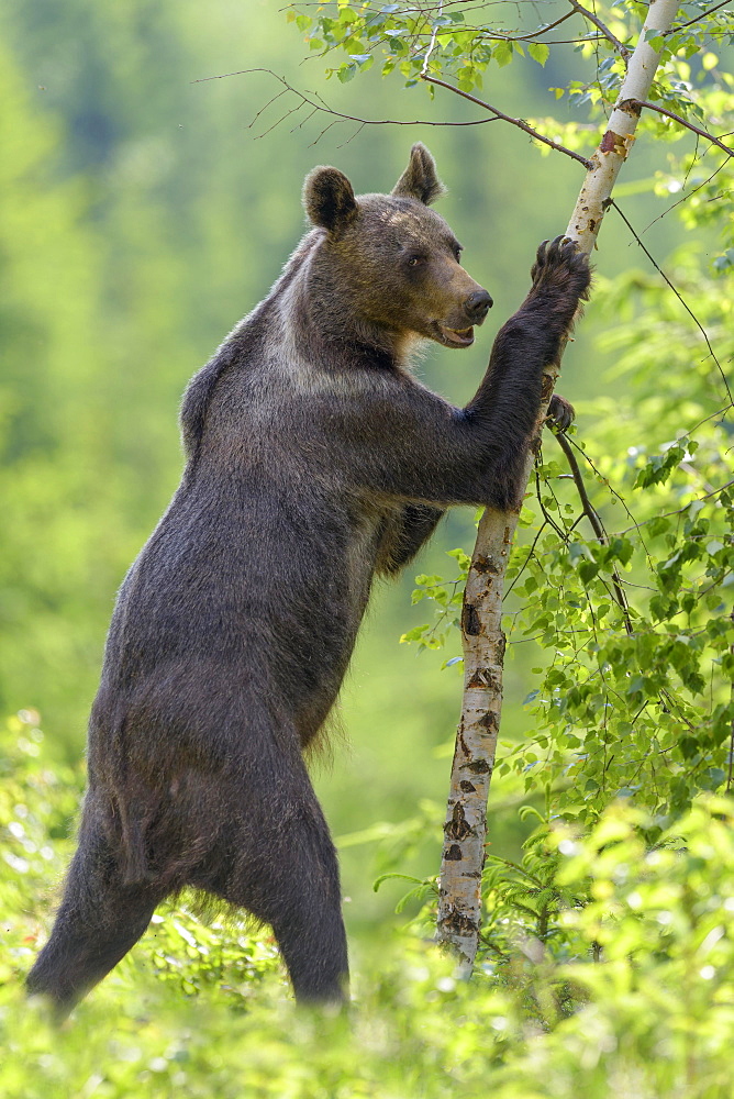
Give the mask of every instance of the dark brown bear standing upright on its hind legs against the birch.
M 59 1013 L 187 885 L 273 925 L 299 999 L 344 996 L 336 856 L 303 750 L 375 575 L 401 569 L 449 504 L 519 506 L 542 369 L 589 286 L 574 245 L 543 245 L 476 397 L 454 408 L 405 369 L 416 335 L 466 343 L 457 330 L 491 302 L 425 204 L 441 190 L 421 145 L 392 196 L 355 199 L 315 169 L 315 227 L 187 390 L 186 471 L 120 591 L 79 846 L 29 977 Z

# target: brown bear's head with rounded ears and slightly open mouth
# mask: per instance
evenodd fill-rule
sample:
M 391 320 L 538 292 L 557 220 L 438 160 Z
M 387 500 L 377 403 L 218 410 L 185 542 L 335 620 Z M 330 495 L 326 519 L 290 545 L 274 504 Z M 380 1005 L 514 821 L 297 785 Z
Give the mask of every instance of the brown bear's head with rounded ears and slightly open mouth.
M 444 191 L 433 157 L 413 145 L 390 195 L 359 195 L 337 168 L 314 168 L 303 202 L 324 233 L 316 284 L 340 318 L 446 347 L 469 347 L 492 304 L 459 263 L 461 245 L 430 203 Z M 334 328 L 329 324 L 329 328 Z

